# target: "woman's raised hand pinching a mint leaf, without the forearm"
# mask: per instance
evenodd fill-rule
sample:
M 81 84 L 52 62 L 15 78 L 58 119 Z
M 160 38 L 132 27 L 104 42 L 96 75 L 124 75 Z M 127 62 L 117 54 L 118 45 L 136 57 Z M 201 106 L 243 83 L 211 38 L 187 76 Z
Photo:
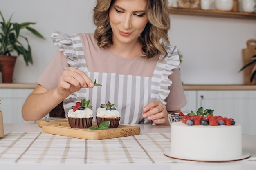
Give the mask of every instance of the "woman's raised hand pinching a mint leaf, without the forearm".
M 83 71 L 70 67 L 63 71 L 58 82 L 57 92 L 61 97 L 66 98 L 81 88 L 93 88 L 93 86 L 94 83 Z

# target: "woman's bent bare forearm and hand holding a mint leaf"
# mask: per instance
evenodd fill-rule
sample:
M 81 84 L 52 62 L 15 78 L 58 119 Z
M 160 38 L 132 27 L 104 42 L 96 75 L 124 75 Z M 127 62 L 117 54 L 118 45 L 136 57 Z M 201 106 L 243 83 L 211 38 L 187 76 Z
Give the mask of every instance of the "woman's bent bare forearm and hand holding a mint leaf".
M 48 91 L 40 84 L 36 86 L 22 107 L 23 119 L 25 121 L 41 119 L 71 93 L 93 86 L 94 83 L 85 73 L 71 67 L 63 71 L 56 88 Z

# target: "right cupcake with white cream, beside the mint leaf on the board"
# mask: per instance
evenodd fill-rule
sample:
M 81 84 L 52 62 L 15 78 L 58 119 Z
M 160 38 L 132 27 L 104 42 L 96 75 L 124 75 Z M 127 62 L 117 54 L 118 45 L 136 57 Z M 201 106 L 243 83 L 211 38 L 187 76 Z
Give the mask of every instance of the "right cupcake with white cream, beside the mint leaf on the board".
M 98 126 L 103 121 L 110 121 L 108 128 L 117 128 L 119 126 L 120 114 L 115 104 L 111 104 L 109 101 L 107 104 L 101 104 L 96 110 L 96 121 Z

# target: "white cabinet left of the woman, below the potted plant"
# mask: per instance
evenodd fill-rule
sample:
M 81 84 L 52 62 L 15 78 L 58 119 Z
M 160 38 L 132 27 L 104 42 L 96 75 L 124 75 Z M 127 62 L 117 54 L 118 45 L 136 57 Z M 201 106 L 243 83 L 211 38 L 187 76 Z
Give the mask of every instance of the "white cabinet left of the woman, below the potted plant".
M 3 121 L 8 123 L 24 123 L 21 115 L 22 106 L 27 96 L 33 91 L 33 89 L 13 89 L 13 88 L 1 88 L 0 109 L 3 112 Z

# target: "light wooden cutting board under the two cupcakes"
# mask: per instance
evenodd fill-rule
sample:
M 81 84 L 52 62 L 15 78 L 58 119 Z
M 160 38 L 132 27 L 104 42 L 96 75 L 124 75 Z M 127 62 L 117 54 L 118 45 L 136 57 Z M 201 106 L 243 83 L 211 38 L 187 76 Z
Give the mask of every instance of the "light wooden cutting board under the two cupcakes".
M 54 135 L 67 137 L 75 137 L 88 140 L 110 139 L 116 137 L 125 137 L 130 135 L 139 135 L 140 128 L 138 126 L 119 125 L 118 128 L 107 130 L 90 130 L 71 128 L 68 121 L 45 121 L 38 120 L 38 126 L 42 127 L 43 132 Z M 96 127 L 97 123 L 92 122 L 92 126 Z

